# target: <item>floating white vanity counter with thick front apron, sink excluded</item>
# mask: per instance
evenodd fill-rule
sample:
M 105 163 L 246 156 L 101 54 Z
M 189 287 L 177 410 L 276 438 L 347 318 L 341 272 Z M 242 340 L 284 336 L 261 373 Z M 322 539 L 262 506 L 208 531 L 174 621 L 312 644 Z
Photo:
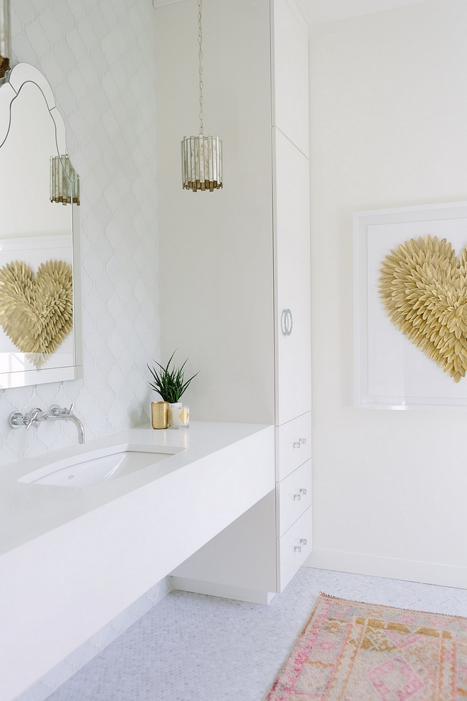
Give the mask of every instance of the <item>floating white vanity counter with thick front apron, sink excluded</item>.
M 195 421 L 188 431 L 132 428 L 2 467 L 0 700 L 16 698 L 270 494 L 274 441 L 273 426 Z M 178 452 L 88 488 L 21 481 L 122 445 Z

